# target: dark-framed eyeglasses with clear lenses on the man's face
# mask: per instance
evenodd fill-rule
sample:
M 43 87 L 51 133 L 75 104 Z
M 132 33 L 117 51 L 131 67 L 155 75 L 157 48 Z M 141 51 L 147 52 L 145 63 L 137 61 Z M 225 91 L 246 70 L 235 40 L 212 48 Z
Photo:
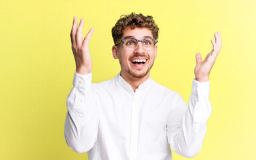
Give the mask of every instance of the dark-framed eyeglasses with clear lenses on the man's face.
M 155 47 L 155 44 L 157 43 L 157 40 L 151 39 L 151 38 L 145 38 L 142 40 L 138 40 L 133 37 L 129 37 L 126 39 L 122 39 L 115 46 L 117 46 L 119 43 L 123 42 L 123 44 L 125 45 L 125 47 L 127 47 L 127 49 L 133 50 L 137 47 L 139 41 L 142 43 L 143 48 L 148 51 L 153 49 Z

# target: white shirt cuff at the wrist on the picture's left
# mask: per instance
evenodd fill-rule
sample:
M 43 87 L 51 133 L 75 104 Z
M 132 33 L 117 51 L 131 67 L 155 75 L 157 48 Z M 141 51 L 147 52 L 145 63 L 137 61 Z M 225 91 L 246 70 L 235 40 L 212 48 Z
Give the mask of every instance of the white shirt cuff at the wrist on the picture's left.
M 76 71 L 74 71 L 73 85 L 74 87 L 77 87 L 80 89 L 86 89 L 88 87 L 91 87 L 92 73 L 90 72 L 86 75 L 80 75 L 79 73 L 76 73 Z

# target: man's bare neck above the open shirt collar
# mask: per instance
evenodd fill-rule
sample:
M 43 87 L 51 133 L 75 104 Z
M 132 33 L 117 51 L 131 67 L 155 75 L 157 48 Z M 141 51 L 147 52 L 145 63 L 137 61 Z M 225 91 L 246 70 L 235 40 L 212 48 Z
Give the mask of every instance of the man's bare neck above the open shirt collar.
M 121 71 L 121 77 L 123 77 L 123 79 L 125 79 L 125 81 L 129 83 L 129 85 L 131 85 L 131 87 L 133 88 L 133 91 L 135 92 L 135 90 L 139 87 L 139 85 L 141 85 L 141 83 L 147 81 L 147 79 L 149 78 L 149 73 L 147 73 L 147 75 L 145 75 L 142 78 L 135 78 L 135 77 L 132 77 L 131 75 L 124 74 Z

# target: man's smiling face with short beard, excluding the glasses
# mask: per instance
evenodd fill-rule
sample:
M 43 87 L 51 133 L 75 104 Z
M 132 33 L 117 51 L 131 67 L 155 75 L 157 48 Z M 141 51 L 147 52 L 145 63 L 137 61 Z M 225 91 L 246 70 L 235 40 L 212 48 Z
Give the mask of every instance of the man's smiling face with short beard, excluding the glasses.
M 145 37 L 153 38 L 153 35 L 149 29 L 143 28 L 126 28 L 123 31 L 123 37 L 134 37 L 136 39 L 144 39 Z M 157 53 L 157 45 L 150 51 L 143 48 L 141 42 L 138 43 L 135 49 L 127 49 L 123 42 L 119 43 L 119 46 L 113 46 L 113 57 L 119 59 L 121 65 L 121 76 L 141 79 L 143 77 L 149 77 L 149 71 L 153 66 L 154 59 Z M 145 63 L 137 63 L 137 61 L 143 61 Z

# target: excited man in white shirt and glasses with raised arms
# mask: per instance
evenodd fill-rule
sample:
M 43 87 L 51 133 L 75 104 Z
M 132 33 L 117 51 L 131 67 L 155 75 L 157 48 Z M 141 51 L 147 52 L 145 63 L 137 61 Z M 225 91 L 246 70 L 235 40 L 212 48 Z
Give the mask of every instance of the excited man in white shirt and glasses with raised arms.
M 66 101 L 64 137 L 77 153 L 90 160 L 170 160 L 173 151 L 194 157 L 200 151 L 211 113 L 209 74 L 220 51 L 220 32 L 204 61 L 196 54 L 195 79 L 189 105 L 175 91 L 149 76 L 157 55 L 158 27 L 151 16 L 131 13 L 112 29 L 113 57 L 121 72 L 101 83 L 91 83 L 88 42 L 82 37 L 84 20 L 74 17 L 71 41 L 76 71 Z

